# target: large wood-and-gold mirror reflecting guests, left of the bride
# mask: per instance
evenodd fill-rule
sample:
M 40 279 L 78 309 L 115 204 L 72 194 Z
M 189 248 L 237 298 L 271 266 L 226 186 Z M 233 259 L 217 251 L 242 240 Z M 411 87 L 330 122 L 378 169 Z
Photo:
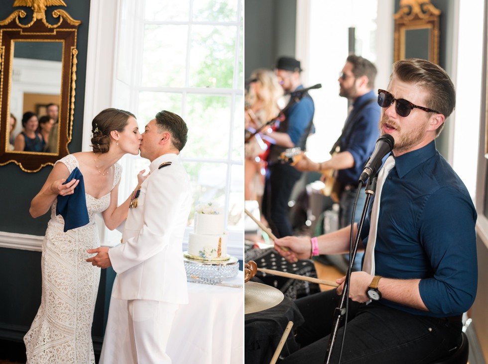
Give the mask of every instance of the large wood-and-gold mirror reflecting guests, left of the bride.
M 53 5 L 66 6 L 63 0 L 15 0 L 13 6 L 34 10 L 32 19 L 14 10 L 0 20 L 0 166 L 13 162 L 37 172 L 69 154 L 81 22 L 56 9 L 51 24 L 46 6 Z

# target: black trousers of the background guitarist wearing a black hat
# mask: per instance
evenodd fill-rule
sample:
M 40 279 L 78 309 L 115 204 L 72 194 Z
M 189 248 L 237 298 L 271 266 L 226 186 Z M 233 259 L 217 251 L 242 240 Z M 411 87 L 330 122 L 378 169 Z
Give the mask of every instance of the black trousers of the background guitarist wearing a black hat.
M 301 172 L 288 164 L 277 163 L 268 169 L 262 196 L 262 213 L 278 238 L 293 235 L 288 218 L 288 201 L 301 175 Z

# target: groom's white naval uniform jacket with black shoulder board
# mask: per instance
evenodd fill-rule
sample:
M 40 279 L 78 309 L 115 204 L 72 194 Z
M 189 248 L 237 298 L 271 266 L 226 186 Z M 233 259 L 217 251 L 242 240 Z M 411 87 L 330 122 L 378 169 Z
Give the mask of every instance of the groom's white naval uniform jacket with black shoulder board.
M 171 162 L 163 168 L 164 162 Z M 156 158 L 142 183 L 137 207 L 129 208 L 122 244 L 109 250 L 118 273 L 112 295 L 188 303 L 183 234 L 190 213 L 190 181 L 176 154 Z

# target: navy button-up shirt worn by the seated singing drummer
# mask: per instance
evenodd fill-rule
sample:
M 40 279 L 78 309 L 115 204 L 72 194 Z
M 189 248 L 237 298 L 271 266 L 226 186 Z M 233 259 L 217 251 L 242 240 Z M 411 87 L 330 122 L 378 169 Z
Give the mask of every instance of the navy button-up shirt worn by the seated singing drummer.
M 476 218 L 466 186 L 435 141 L 395 158 L 381 192 L 375 274 L 420 278 L 420 296 L 430 312 L 380 302 L 425 316 L 466 312 L 477 289 Z M 362 231 L 365 246 L 368 232 L 369 216 Z

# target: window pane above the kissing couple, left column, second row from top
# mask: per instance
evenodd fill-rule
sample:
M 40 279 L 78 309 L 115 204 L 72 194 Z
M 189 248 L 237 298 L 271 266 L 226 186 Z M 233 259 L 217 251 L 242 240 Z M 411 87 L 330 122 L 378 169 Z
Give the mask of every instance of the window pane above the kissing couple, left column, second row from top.
M 146 25 L 142 86 L 183 87 L 185 85 L 188 25 Z

